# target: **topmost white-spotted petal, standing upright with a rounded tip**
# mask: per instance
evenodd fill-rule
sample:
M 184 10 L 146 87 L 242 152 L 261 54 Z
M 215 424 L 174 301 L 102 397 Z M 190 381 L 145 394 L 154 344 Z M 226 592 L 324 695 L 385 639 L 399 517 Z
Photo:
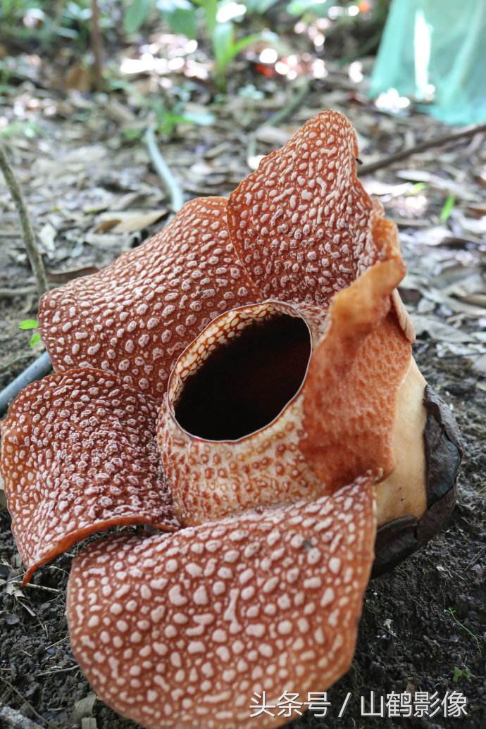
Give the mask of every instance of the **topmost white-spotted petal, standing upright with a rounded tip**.
M 326 306 L 380 258 L 342 114 L 321 112 L 230 195 L 232 242 L 264 297 Z

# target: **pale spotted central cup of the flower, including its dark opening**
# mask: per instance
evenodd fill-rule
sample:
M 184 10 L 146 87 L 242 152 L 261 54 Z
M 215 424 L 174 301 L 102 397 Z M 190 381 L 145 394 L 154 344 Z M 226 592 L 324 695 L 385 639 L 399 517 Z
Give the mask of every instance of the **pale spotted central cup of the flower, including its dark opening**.
M 212 321 L 179 357 L 160 408 L 157 443 L 174 510 L 184 526 L 322 493 L 321 481 L 306 463 L 299 441 L 304 434 L 310 338 L 316 346 L 323 324 L 321 312 L 313 312 L 312 307 L 301 314 L 297 307 L 278 301 L 247 305 Z M 244 358 L 250 345 L 255 351 L 248 367 Z M 235 356 L 229 358 L 228 352 Z M 216 370 L 217 377 L 213 360 L 222 364 L 223 371 Z M 213 391 L 205 399 L 206 384 L 198 388 L 197 378 L 198 373 L 205 376 L 207 363 Z M 236 368 L 240 381 L 232 378 L 228 367 Z M 191 418 L 192 402 L 200 398 L 205 416 L 201 409 L 200 421 L 187 421 L 185 429 L 177 417 L 178 402 L 184 399 L 186 385 L 194 382 L 195 391 L 193 397 L 187 397 L 185 413 Z M 211 424 L 212 398 L 219 398 L 219 388 L 222 399 L 215 429 Z M 248 410 L 238 399 L 243 389 L 251 406 Z M 225 397 L 230 399 L 228 409 Z M 238 408 L 245 415 L 243 421 Z M 231 418 L 235 431 L 228 431 L 225 417 Z M 206 424 L 210 424 L 211 433 Z M 222 440 L 203 437 L 194 432 L 193 425 Z M 236 434 L 240 434 L 238 439 L 227 440 L 228 435 Z

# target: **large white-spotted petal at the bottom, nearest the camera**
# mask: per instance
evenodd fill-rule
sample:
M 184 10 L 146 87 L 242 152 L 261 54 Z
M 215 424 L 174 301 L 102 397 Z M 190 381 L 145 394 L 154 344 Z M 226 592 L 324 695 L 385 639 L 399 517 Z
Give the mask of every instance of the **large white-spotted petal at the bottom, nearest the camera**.
M 275 704 L 348 670 L 375 529 L 363 477 L 315 502 L 96 542 L 69 578 L 74 655 L 147 729 L 278 726 L 250 720 L 254 692 Z

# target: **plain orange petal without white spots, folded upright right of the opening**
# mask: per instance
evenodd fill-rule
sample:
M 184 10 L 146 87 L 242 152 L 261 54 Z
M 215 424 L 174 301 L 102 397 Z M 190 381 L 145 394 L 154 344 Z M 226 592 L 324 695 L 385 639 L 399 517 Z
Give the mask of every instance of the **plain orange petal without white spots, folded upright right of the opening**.
M 329 491 L 364 470 L 382 478 L 394 467 L 397 397 L 411 348 L 391 295 L 405 268 L 396 226 L 376 214 L 372 235 L 384 260 L 332 300 L 305 390 L 301 448 Z

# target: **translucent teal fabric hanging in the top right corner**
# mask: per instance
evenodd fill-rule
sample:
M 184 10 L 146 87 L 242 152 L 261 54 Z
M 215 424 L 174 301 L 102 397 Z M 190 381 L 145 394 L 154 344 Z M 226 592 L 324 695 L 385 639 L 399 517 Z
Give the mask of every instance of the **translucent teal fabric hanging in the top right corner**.
M 393 0 L 369 95 L 392 88 L 447 124 L 486 121 L 486 0 Z

